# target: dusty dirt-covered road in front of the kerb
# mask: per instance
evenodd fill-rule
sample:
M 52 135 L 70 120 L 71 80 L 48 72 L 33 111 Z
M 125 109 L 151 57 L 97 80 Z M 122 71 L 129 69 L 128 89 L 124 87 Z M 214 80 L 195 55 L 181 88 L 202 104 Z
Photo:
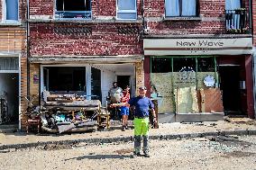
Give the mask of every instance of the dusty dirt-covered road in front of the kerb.
M 256 136 L 151 140 L 151 157 L 133 142 L 47 145 L 0 151 L 0 169 L 256 169 Z

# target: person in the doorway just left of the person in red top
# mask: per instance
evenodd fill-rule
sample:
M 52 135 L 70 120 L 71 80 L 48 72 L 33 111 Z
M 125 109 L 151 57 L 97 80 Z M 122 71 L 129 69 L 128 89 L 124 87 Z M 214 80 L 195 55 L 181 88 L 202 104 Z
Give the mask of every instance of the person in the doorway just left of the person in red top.
M 119 87 L 117 85 L 117 82 L 113 82 L 113 87 L 110 88 L 110 90 L 108 91 L 108 99 L 110 100 L 110 104 L 114 104 L 114 103 L 121 103 L 121 98 L 123 96 L 123 90 L 121 87 Z M 111 112 L 111 117 L 114 120 L 119 120 L 119 112 L 120 112 L 120 108 L 119 106 L 114 107 L 112 109 Z

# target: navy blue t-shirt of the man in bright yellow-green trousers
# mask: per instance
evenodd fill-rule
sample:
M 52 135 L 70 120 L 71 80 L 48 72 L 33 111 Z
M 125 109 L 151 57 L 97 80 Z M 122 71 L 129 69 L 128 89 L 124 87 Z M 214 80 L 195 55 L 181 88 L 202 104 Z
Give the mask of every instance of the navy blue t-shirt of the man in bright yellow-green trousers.
M 149 116 L 149 110 L 154 108 L 154 104 L 148 97 L 133 97 L 129 102 L 131 106 L 135 106 L 134 116 L 145 117 Z

